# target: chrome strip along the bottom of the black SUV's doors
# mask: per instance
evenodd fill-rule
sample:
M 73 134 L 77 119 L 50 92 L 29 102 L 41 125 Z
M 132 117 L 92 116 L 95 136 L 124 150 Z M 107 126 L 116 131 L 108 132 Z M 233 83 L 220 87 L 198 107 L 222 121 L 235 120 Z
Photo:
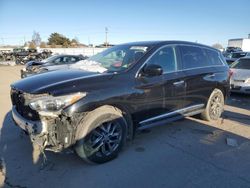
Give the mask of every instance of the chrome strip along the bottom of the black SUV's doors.
M 165 114 L 161 114 L 161 115 L 158 115 L 158 116 L 143 120 L 143 121 L 139 122 L 139 124 L 145 124 L 145 123 L 148 123 L 150 121 L 155 121 L 157 119 L 166 118 L 168 116 L 172 116 L 172 115 L 177 114 L 177 113 L 185 114 L 189 110 L 198 110 L 198 109 L 200 109 L 200 108 L 202 108 L 204 106 L 205 106 L 204 104 L 197 104 L 197 105 L 185 107 L 185 108 L 182 108 L 182 109 L 179 109 L 179 110 L 175 110 L 175 111 L 172 111 L 172 112 L 168 112 L 168 113 L 165 113 Z

